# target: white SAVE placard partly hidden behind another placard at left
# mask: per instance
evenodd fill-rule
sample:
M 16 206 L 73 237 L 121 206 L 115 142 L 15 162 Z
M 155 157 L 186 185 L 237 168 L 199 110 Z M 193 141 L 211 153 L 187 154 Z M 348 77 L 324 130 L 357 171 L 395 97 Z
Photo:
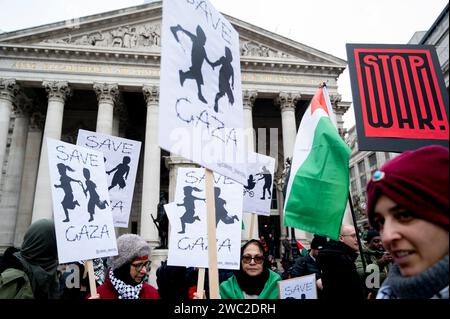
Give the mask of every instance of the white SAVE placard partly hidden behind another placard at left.
M 115 227 L 128 227 L 141 142 L 86 130 L 77 145 L 103 153 Z

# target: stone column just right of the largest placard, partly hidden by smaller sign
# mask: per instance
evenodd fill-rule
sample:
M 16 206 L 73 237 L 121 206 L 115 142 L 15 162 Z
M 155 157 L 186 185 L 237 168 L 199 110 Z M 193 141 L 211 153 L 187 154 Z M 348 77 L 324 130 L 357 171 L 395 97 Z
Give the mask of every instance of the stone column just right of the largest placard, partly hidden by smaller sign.
M 246 131 L 247 138 L 247 149 L 250 152 L 255 151 L 255 131 L 253 129 L 253 106 L 255 105 L 256 96 L 258 92 L 256 91 L 244 91 L 242 95 L 243 105 L 244 105 L 244 128 Z M 248 241 L 250 238 L 250 223 L 252 221 L 253 213 L 244 213 L 242 216 L 244 222 L 244 229 L 242 230 L 241 239 L 242 241 Z M 258 215 L 255 215 L 255 221 L 253 225 L 252 238 L 258 238 Z

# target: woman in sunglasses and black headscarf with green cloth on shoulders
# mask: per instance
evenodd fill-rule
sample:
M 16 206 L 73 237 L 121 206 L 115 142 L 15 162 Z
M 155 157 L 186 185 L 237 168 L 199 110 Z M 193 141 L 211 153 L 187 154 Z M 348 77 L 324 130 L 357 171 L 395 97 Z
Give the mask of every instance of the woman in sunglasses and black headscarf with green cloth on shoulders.
M 241 267 L 220 284 L 222 299 L 278 299 L 279 274 L 270 270 L 264 247 L 258 240 L 249 240 L 241 248 Z

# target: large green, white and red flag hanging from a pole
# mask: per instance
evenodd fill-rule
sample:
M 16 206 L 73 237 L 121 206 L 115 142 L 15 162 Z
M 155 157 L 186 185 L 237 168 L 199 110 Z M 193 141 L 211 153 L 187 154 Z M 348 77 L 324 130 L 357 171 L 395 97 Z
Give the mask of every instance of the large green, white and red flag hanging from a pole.
M 335 123 L 323 86 L 311 100 L 298 129 L 284 225 L 338 240 L 349 194 L 351 151 Z

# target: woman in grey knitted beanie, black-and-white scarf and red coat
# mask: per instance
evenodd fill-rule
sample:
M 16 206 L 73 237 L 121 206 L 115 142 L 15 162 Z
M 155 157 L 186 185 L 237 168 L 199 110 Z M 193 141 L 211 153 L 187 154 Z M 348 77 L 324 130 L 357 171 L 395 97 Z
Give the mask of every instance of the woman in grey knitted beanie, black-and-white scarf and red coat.
M 150 272 L 147 242 L 124 234 L 117 238 L 117 249 L 119 254 L 108 259 L 105 283 L 97 289 L 99 299 L 160 299 L 158 290 L 145 282 Z

